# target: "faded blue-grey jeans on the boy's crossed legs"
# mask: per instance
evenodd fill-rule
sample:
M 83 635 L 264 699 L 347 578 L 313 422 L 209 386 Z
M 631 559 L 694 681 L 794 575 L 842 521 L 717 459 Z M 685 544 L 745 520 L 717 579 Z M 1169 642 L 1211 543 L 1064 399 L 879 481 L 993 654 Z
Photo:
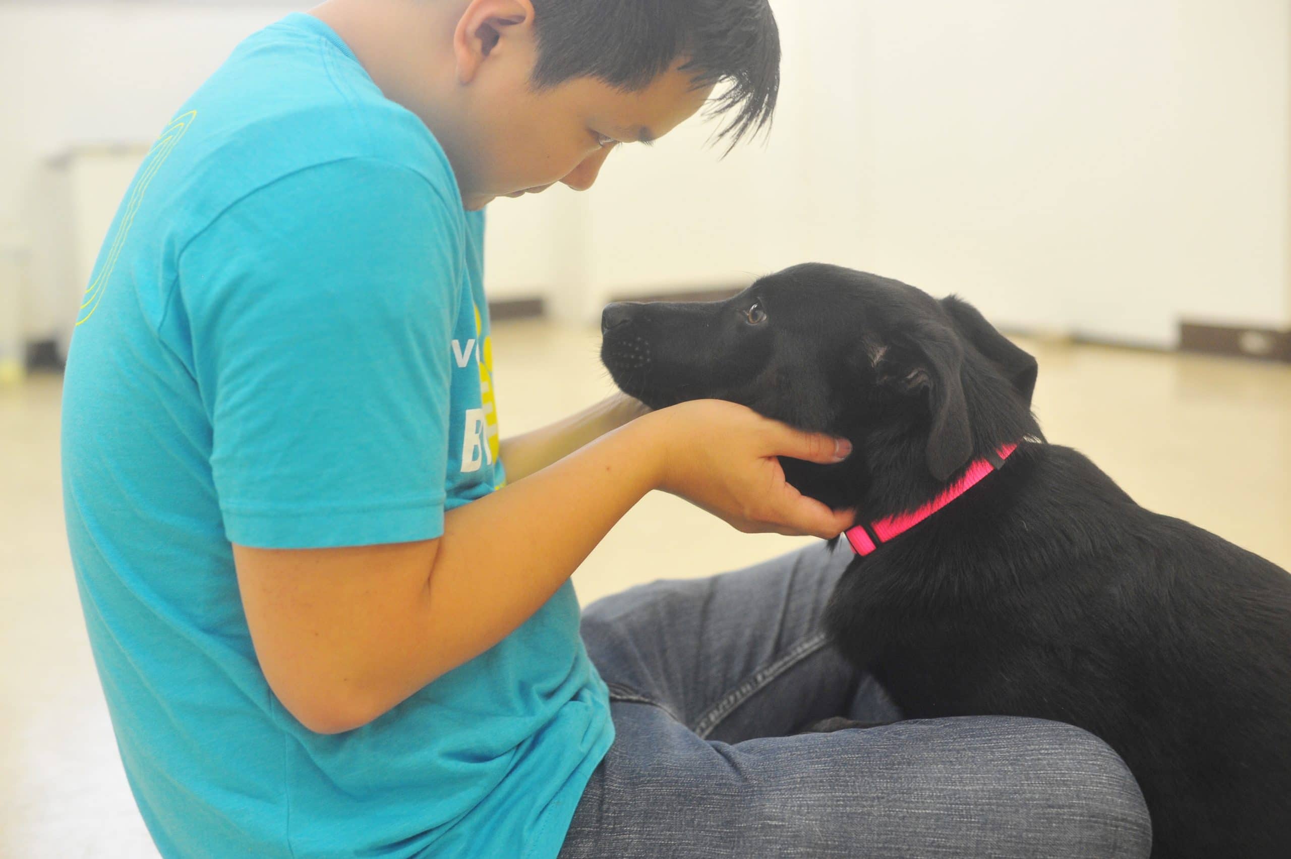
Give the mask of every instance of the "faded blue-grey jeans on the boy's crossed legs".
M 849 552 L 811 546 L 584 611 L 617 738 L 560 856 L 1146 856 L 1152 825 L 1115 752 L 1057 722 L 911 719 L 825 641 Z

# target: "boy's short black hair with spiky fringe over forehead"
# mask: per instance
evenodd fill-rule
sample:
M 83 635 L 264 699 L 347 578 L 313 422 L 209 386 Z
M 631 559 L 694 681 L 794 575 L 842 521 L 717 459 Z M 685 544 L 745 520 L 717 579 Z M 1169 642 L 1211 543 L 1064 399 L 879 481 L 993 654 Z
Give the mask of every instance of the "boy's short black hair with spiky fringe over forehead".
M 780 90 L 780 31 L 767 0 L 533 0 L 538 89 L 596 78 L 644 89 L 679 58 L 696 85 L 729 83 L 706 115 L 733 146 L 766 127 Z

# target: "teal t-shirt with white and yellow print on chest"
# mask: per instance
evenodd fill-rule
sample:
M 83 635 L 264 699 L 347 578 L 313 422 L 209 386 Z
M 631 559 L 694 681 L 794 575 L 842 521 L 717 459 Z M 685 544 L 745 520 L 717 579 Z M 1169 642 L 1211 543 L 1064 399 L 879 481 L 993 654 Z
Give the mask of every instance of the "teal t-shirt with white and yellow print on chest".
M 71 342 L 63 495 L 165 856 L 559 851 L 613 739 L 569 583 L 324 736 L 259 669 L 230 546 L 429 540 L 502 486 L 482 242 L 426 125 L 303 14 L 236 49 L 121 203 Z

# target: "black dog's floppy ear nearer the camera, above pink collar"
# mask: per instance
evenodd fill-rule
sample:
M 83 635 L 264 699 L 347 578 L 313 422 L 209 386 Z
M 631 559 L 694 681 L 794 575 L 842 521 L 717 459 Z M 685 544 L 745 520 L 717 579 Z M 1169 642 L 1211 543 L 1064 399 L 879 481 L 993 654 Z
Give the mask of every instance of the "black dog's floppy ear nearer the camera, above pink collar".
M 909 390 L 927 390 L 932 428 L 928 433 L 928 471 L 937 481 L 949 481 L 972 457 L 972 428 L 959 371 L 963 346 L 942 324 L 919 326 L 913 345 L 922 360 L 905 377 Z

